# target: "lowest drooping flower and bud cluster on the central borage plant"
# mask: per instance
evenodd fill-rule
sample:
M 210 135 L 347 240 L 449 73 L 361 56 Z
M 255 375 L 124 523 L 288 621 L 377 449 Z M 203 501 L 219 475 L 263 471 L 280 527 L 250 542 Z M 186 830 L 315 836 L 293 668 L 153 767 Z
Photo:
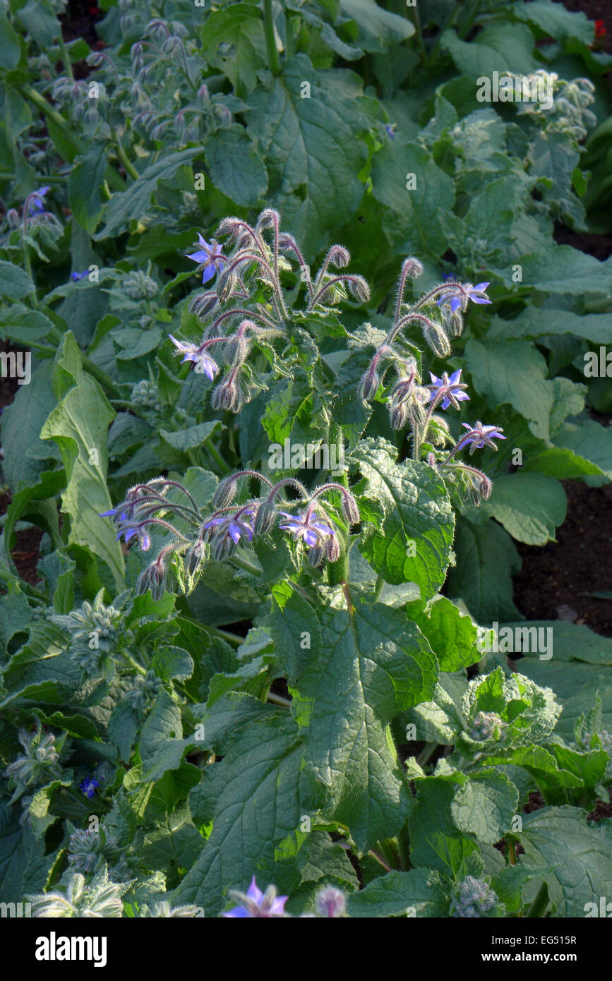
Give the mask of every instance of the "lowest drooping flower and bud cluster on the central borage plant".
M 268 492 L 233 504 L 238 482 L 243 478 L 257 479 Z M 280 498 L 284 489 L 289 487 L 297 491 L 297 500 Z M 167 497 L 170 488 L 182 491 L 188 504 L 170 500 Z M 159 599 L 168 583 L 171 561 L 174 562 L 179 586 L 190 592 L 209 555 L 218 562 L 238 559 L 236 549 L 239 546 L 248 547 L 254 538 L 270 535 L 275 527 L 287 532 L 294 542 L 307 549 L 311 565 L 319 566 L 324 559 L 337 561 L 343 549 L 342 530 L 324 503 L 325 495 L 330 492 L 339 493 L 340 510 L 347 525 L 357 524 L 360 520 L 357 501 L 350 490 L 342 485 L 329 482 L 309 492 L 294 478 L 284 478 L 273 484 L 253 470 L 241 470 L 222 481 L 212 501 L 215 510 L 209 517 L 199 511 L 188 490 L 164 477 L 130 488 L 125 501 L 104 512 L 104 516 L 113 518 L 118 539 L 123 536 L 127 542 L 138 542 L 143 551 L 151 545 L 147 529 L 150 531 L 157 527 L 161 532 L 170 532 L 174 536 L 163 545 L 136 583 L 136 593 L 143 594 L 150 590 L 153 598 Z M 279 506 L 280 500 L 283 510 Z M 168 515 L 173 512 L 173 520 L 182 523 L 184 533 L 168 520 Z M 255 571 L 254 566 L 249 568 Z M 144 691 L 146 684 L 145 678 L 141 681 L 142 697 L 147 694 Z M 151 684 L 154 684 L 154 679 Z

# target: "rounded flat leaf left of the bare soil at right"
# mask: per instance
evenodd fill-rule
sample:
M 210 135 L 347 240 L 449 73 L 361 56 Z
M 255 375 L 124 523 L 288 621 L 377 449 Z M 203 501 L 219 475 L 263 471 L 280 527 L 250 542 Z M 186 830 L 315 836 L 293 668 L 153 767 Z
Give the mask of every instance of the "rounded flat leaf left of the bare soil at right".
M 517 542 L 543 545 L 554 539 L 567 514 L 567 496 L 554 477 L 516 473 L 499 477 L 483 513 L 495 518 Z

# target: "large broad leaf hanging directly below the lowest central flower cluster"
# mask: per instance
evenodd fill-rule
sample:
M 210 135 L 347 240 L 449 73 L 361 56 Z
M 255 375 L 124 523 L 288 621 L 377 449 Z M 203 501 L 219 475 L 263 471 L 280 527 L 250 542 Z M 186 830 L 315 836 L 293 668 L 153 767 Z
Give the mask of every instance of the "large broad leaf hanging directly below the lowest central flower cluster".
M 268 628 L 295 689 L 291 711 L 305 727 L 306 767 L 326 789 L 330 814 L 365 850 L 406 817 L 406 786 L 386 727 L 398 711 L 432 697 L 435 657 L 400 610 L 356 599 L 350 610 L 316 613 L 288 592 L 273 588 L 280 612 Z

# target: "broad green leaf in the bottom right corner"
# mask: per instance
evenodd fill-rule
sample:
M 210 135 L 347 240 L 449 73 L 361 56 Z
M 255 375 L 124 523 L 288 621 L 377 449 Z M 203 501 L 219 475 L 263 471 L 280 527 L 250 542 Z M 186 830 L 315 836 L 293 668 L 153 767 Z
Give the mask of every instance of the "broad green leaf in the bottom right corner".
M 553 904 L 553 917 L 584 917 L 587 904 L 606 896 L 612 881 L 610 825 L 587 824 L 578 807 L 543 807 L 523 817 L 517 838 L 525 849 L 522 863 L 536 869 L 554 866 L 542 874 Z

